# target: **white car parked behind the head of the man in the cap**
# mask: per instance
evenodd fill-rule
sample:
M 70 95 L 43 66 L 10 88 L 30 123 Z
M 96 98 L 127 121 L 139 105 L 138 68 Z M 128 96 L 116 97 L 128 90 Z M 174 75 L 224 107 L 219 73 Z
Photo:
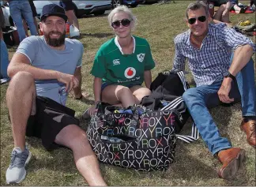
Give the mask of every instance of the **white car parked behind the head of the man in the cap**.
M 43 6 L 47 4 L 55 3 L 59 5 L 59 1 L 37 1 L 34 0 L 36 6 L 36 12 L 40 17 Z M 96 16 L 102 15 L 106 10 L 111 9 L 111 0 L 90 0 L 90 1 L 73 1 L 74 13 L 77 17 L 81 17 L 84 14 L 94 14 Z

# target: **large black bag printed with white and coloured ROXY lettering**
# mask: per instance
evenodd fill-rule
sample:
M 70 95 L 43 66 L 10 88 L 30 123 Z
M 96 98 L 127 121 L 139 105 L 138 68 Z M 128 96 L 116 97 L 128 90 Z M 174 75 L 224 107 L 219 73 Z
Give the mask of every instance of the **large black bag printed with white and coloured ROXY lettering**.
M 168 169 L 175 157 L 175 113 L 104 103 L 97 108 L 87 136 L 101 162 L 145 171 Z

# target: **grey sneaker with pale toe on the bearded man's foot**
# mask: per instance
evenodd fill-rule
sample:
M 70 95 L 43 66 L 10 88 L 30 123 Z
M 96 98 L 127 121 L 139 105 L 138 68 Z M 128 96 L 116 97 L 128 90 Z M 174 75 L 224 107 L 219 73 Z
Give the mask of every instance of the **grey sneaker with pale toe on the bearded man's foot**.
M 26 147 L 24 151 L 21 148 L 13 148 L 11 163 L 6 170 L 6 183 L 17 184 L 24 180 L 26 176 L 25 165 L 31 159 L 31 152 Z

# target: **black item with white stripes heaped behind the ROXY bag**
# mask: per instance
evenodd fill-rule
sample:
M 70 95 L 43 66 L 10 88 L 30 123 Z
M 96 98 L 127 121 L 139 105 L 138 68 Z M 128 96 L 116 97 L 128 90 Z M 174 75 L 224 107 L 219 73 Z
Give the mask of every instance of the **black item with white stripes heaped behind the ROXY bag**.
M 164 71 L 152 81 L 150 85 L 152 94 L 144 97 L 141 105 L 152 110 L 175 110 L 178 115 L 175 133 L 179 133 L 190 117 L 182 99 L 187 88 L 189 88 L 189 84 L 187 84 L 182 71 Z

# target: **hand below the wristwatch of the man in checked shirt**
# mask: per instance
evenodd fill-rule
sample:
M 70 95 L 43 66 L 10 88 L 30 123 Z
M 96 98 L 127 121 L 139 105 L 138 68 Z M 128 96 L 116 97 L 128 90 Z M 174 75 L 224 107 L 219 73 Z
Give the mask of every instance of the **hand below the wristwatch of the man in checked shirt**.
M 219 98 L 220 98 L 220 101 L 223 102 L 223 103 L 232 103 L 234 102 L 234 99 L 230 99 L 228 94 L 232 88 L 232 78 L 230 77 L 227 77 L 227 78 L 224 78 L 221 86 L 220 86 L 220 89 L 218 91 L 218 95 L 219 95 Z

